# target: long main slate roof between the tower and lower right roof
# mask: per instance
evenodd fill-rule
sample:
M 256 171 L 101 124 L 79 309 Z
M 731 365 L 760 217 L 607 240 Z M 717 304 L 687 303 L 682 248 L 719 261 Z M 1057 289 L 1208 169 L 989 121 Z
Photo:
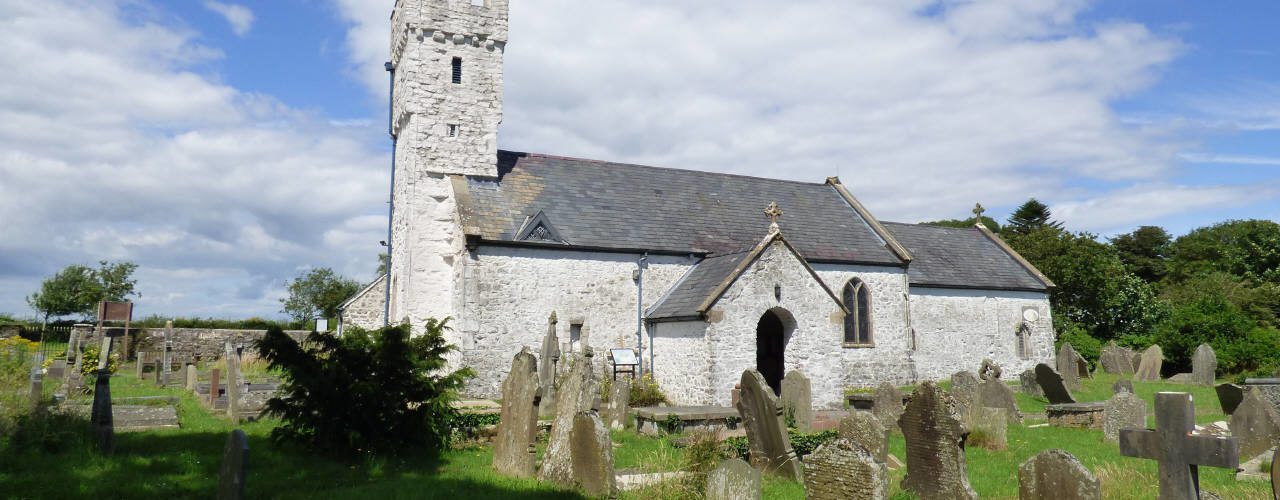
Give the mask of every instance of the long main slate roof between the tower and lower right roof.
M 727 254 L 768 233 L 763 210 L 808 261 L 902 266 L 828 184 L 696 170 L 498 152 L 497 180 L 467 178 L 463 226 L 481 240 L 512 242 L 544 212 L 564 243 L 600 249 Z

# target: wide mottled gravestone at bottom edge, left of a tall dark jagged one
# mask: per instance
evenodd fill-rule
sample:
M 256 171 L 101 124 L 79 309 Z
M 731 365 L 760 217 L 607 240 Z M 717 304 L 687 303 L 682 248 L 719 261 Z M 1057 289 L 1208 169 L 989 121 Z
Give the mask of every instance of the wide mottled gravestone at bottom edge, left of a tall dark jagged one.
M 883 500 L 888 467 L 847 437 L 836 437 L 805 457 L 806 500 Z

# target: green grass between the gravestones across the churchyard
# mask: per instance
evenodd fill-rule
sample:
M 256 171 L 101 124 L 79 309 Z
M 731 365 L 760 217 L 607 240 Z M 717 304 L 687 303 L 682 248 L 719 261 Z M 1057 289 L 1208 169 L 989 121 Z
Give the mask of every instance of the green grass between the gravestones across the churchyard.
M 1105 400 L 1115 377 L 1096 375 L 1083 380 L 1079 400 Z M 1156 391 L 1189 391 L 1194 396 L 1198 422 L 1225 419 L 1211 387 L 1165 382 L 1134 382 L 1138 396 L 1152 405 Z M 46 387 L 47 391 L 47 387 Z M 178 398 L 180 430 L 116 435 L 116 451 L 104 457 L 87 441 L 59 453 L 0 450 L 0 491 L 18 497 L 209 497 L 216 488 L 227 434 L 236 428 L 227 419 L 211 416 L 193 396 L 180 389 L 157 389 L 141 382 L 133 371 L 122 368 L 113 380 L 115 398 L 169 395 Z M 1042 412 L 1043 399 L 1018 395 L 1024 412 Z M 1148 414 L 1153 412 L 1148 410 Z M 279 422 L 262 419 L 239 426 L 250 437 L 250 497 L 467 497 L 563 499 L 580 497 L 532 480 L 498 476 L 490 467 L 492 449 L 475 446 L 447 453 L 439 462 L 415 459 L 366 459 L 342 462 L 307 450 L 276 445 L 269 440 Z M 1030 419 L 1029 425 L 1039 423 Z M 1148 417 L 1148 426 L 1153 426 Z M 637 436 L 634 431 L 614 431 L 617 469 L 667 472 L 686 469 L 685 450 L 671 439 Z M 1121 457 L 1115 444 L 1102 440 L 1101 431 L 1056 427 L 1029 428 L 1014 425 L 1009 448 L 991 451 L 969 448 L 968 469 L 974 490 L 984 499 L 1018 497 L 1018 465 L 1046 449 L 1064 449 L 1079 458 L 1101 481 L 1103 497 L 1149 499 L 1157 485 L 1156 463 Z M 901 435 L 890 441 L 890 451 L 905 457 Z M 891 472 L 891 497 L 911 499 L 901 491 L 905 469 Z M 1201 485 L 1229 499 L 1267 499 L 1265 481 L 1236 482 L 1229 471 L 1202 468 Z M 695 497 L 699 485 L 669 482 L 621 495 L 623 499 Z M 765 477 L 765 499 L 803 499 L 800 483 Z

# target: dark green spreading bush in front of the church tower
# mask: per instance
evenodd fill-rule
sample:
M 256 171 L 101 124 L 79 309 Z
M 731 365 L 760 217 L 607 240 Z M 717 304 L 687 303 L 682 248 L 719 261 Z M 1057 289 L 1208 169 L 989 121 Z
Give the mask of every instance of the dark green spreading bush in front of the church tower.
M 451 402 L 470 368 L 445 371 L 448 318 L 428 320 L 410 339 L 404 325 L 344 336 L 312 332 L 298 345 L 279 327 L 257 343 L 279 370 L 280 395 L 268 412 L 284 423 L 276 441 L 293 441 L 343 457 L 421 451 L 438 455 L 449 445 L 458 418 Z

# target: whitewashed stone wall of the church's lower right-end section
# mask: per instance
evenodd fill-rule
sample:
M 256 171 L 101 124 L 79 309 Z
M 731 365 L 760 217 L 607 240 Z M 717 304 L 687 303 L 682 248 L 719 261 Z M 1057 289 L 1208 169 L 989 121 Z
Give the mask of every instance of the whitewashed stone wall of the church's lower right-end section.
M 1036 308 L 1030 324 L 1030 355 L 1018 354 L 1023 308 Z M 1006 376 L 1034 368 L 1053 357 L 1053 324 L 1048 295 L 1036 292 L 911 289 L 915 368 L 920 379 L 941 380 L 960 370 L 977 371 L 983 358 Z

